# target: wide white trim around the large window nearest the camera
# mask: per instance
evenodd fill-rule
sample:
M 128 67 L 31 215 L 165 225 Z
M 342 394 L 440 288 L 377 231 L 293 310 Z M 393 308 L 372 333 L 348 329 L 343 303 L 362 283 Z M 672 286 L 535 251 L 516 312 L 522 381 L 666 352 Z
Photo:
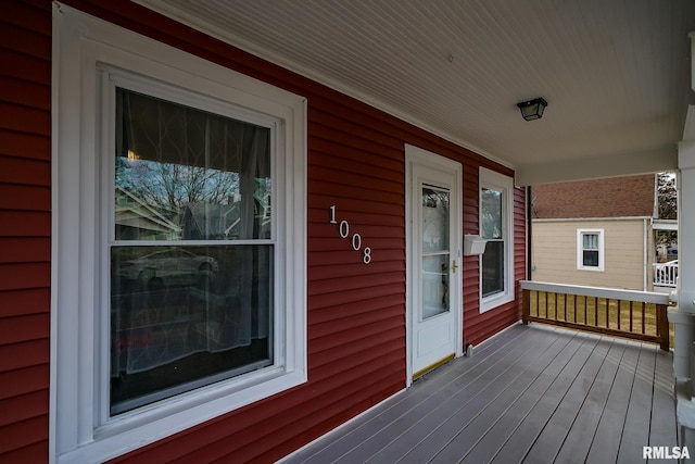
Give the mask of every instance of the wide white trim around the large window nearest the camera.
M 101 462 L 306 381 L 306 99 L 53 3 L 51 462 Z M 140 407 L 109 421 L 99 373 L 108 344 L 99 316 L 105 272 L 100 206 L 108 130 L 98 64 L 245 106 L 280 123 L 274 342 L 281 365 Z M 101 122 L 101 123 L 100 123 Z M 108 128 L 108 127 L 106 127 Z M 101 137 L 101 141 L 100 141 Z M 99 154 L 101 156 L 101 154 Z M 283 214 L 282 212 L 287 212 Z M 285 231 L 285 233 L 282 233 Z M 283 238 L 285 237 L 285 238 Z M 280 314 L 280 313 L 278 313 Z M 101 341 L 100 341 L 101 340 Z

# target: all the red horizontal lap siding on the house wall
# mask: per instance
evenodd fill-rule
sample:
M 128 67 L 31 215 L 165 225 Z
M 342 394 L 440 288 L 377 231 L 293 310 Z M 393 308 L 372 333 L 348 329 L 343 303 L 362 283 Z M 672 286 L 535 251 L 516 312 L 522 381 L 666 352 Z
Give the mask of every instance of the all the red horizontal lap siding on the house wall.
M 404 143 L 464 164 L 466 234 L 478 231 L 479 166 L 513 173 L 136 4 L 66 3 L 308 98 L 308 383 L 115 461 L 268 462 L 402 389 Z M 0 461 L 37 462 L 48 455 L 50 2 L 12 1 L 0 22 L 0 60 L 16 63 L 0 71 L 0 83 L 13 89 L 0 99 L 0 432 L 11 438 L 2 440 Z M 516 191 L 518 278 L 523 201 Z M 330 205 L 372 249 L 371 264 L 329 224 Z M 478 258 L 466 258 L 464 336 L 473 343 L 519 318 L 516 302 L 479 314 L 478 274 Z

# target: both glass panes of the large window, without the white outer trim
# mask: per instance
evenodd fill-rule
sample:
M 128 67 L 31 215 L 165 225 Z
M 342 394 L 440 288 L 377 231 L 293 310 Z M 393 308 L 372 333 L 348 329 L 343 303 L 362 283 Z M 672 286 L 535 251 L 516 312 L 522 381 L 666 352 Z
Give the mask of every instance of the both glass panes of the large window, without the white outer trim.
M 115 102 L 112 415 L 273 364 L 275 247 L 271 126 Z

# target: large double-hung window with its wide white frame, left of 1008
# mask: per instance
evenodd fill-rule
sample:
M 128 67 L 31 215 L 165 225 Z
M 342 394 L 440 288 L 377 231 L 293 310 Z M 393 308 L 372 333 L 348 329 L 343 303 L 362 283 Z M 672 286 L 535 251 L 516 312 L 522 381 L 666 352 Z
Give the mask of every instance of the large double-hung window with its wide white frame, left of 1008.
M 51 434 L 102 462 L 306 381 L 306 106 L 56 16 Z

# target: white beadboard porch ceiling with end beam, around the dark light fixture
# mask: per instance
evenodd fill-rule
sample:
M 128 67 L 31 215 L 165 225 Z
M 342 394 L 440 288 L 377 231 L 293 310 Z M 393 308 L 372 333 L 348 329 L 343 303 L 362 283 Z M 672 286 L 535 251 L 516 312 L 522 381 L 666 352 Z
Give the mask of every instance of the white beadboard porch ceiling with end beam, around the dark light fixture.
M 517 170 L 673 168 L 693 0 L 140 0 Z M 516 103 L 543 97 L 542 120 Z

